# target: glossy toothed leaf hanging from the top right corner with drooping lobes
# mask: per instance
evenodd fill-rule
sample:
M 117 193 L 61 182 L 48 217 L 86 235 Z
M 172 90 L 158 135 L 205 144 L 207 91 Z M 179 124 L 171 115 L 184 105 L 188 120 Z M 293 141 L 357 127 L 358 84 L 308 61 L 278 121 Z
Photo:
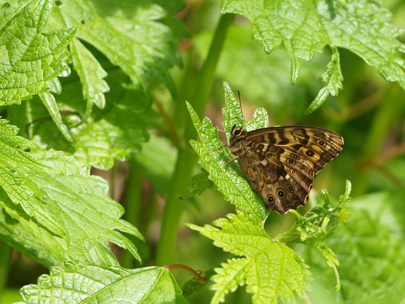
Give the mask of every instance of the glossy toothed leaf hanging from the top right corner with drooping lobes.
M 325 84 L 306 114 L 314 111 L 330 94 L 336 96 L 343 79 L 337 47 L 357 54 L 377 68 L 387 81 L 405 89 L 405 64 L 396 53 L 405 48 L 396 37 L 400 30 L 389 23 L 391 13 L 367 0 L 265 1 L 224 0 L 222 13 L 235 13 L 252 21 L 252 35 L 266 53 L 282 42 L 291 60 L 291 82 L 297 80 L 301 59 L 311 60 L 326 45 L 332 48 L 331 62 L 320 81 Z

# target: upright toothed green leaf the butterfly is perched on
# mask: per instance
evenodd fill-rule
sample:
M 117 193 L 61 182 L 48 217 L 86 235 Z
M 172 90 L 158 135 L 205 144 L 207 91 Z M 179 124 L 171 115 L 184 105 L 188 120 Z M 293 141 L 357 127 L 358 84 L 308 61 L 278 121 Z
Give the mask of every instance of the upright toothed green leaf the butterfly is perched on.
M 248 131 L 267 126 L 268 117 L 265 109 L 258 108 L 253 118 L 246 124 L 239 102 L 236 101 L 227 83 L 224 83 L 224 91 L 227 105 L 223 109 L 225 130 L 230 130 L 235 124 L 243 124 Z M 224 194 L 225 200 L 231 201 L 237 209 L 248 211 L 260 219 L 265 219 L 269 210 L 265 207 L 263 200 L 253 192 L 239 166 L 235 162 L 231 162 L 222 170 L 222 167 L 231 160 L 231 157 L 225 147 L 220 148 L 223 144 L 219 139 L 218 129 L 213 127 L 208 118 L 205 118 L 201 123 L 189 103 L 187 103 L 187 107 L 201 140 L 201 142 L 191 140 L 190 143 L 200 157 L 199 163 L 210 173 L 210 179 Z

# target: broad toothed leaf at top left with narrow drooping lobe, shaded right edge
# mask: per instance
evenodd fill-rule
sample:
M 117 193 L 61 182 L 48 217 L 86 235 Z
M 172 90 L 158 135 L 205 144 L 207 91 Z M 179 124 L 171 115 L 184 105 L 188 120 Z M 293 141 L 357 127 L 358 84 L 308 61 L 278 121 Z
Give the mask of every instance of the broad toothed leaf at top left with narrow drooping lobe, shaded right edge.
M 68 0 L 55 8 L 52 26 L 77 26 L 76 38 L 92 45 L 119 66 L 144 94 L 150 94 L 150 78 L 165 84 L 174 94 L 175 86 L 168 69 L 180 60 L 177 37 L 170 27 L 159 22 L 165 18 L 173 17 L 152 1 L 128 2 L 123 7 L 119 2 Z M 87 78 L 83 90 L 89 92 L 89 88 L 96 86 L 94 93 L 98 96 L 94 96 L 94 100 L 100 104 L 102 92 L 107 88 L 101 80 L 104 72 L 83 45 L 77 48 L 77 43 L 73 44 L 73 64 L 78 68 L 80 79 L 85 79 L 85 71 L 80 67 L 82 60 L 90 64 L 90 70 L 97 71 L 97 75 L 89 76 L 92 80 Z M 89 72 L 89 66 L 86 69 Z

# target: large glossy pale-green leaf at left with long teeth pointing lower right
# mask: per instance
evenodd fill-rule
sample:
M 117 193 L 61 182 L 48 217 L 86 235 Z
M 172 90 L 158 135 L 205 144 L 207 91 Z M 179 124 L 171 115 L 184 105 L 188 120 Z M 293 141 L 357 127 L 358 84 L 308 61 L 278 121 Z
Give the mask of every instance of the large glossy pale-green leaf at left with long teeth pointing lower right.
M 108 190 L 105 180 L 91 176 L 88 166 L 79 164 L 61 151 L 30 153 L 29 156 L 35 162 L 63 172 L 61 175 L 36 167 L 18 168 L 24 181 L 20 183 L 30 191 L 37 206 L 45 209 L 50 218 L 57 219 L 64 234 L 53 233 L 53 226 L 45 220 L 37 222 L 37 214 L 30 215 L 19 208 L 21 203 L 15 206 L 5 188 L 6 191 L 0 192 L 0 204 L 16 219 L 6 217 L 5 225 L 8 226 L 3 230 L 7 241 L 11 239 L 11 244 L 19 251 L 47 267 L 62 265 L 66 259 L 116 265 L 118 262 L 108 248 L 108 242 L 130 250 L 140 260 L 135 246 L 119 231 L 143 238 L 134 226 L 119 219 L 124 208 L 105 196 Z M 26 238 L 19 235 L 14 239 L 13 233 L 23 230 Z M 33 237 L 42 242 L 30 242 Z

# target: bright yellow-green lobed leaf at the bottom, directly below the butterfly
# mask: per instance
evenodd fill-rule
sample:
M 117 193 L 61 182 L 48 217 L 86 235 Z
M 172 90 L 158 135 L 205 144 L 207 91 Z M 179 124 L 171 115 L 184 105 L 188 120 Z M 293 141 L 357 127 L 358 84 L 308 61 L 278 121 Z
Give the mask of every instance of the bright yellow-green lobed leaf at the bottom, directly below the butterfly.
M 229 259 L 211 279 L 215 290 L 211 303 L 224 300 L 226 294 L 238 285 L 247 284 L 253 303 L 278 303 L 302 298 L 309 289 L 310 272 L 303 259 L 285 244 L 273 241 L 263 229 L 263 222 L 252 214 L 228 214 L 212 225 L 188 226 L 212 239 L 241 258 Z

